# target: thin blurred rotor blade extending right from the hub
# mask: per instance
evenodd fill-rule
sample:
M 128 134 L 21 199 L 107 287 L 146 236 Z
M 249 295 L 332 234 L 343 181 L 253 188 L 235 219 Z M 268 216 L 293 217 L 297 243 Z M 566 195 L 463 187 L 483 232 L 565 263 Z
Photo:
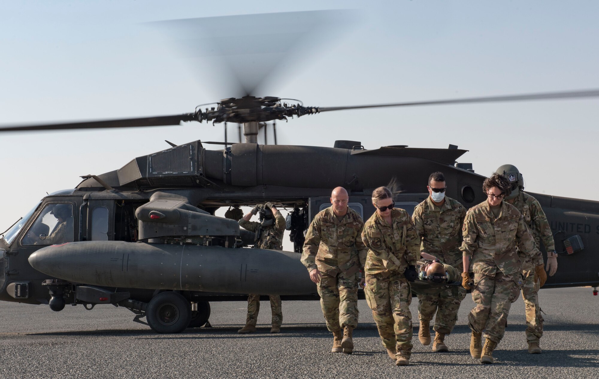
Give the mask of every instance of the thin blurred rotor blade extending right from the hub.
M 354 105 L 354 106 L 329 106 L 319 107 L 319 112 L 343 111 L 344 109 L 364 109 L 364 108 L 385 108 L 390 106 L 415 106 L 415 105 L 441 105 L 441 104 L 461 104 L 461 103 L 492 103 L 492 102 L 510 102 L 522 100 L 552 100 L 552 99 L 577 99 L 581 97 L 597 97 L 599 90 L 568 91 L 568 92 L 546 92 L 531 93 L 521 95 L 489 96 L 489 97 L 467 97 L 465 99 L 452 100 L 429 100 L 422 102 L 409 103 L 391 103 L 374 105 Z

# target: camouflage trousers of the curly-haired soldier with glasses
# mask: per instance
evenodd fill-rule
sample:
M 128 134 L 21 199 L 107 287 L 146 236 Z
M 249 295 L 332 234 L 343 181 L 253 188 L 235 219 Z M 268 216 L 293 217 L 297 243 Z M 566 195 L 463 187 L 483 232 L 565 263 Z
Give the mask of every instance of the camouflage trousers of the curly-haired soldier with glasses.
M 468 314 L 468 325 L 472 331 L 482 333 L 489 340 L 499 343 L 506 331 L 507 315 L 512 302 L 520 293 L 520 273 L 495 276 L 474 274 L 472 299 L 476 306 Z

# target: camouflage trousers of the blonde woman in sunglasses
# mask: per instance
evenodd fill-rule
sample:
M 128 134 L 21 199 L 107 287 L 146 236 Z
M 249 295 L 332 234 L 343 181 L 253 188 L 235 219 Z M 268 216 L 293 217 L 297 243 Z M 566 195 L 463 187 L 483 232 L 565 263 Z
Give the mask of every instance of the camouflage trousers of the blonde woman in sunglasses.
M 409 359 L 412 354 L 412 291 L 406 277 L 399 273 L 366 274 L 364 294 L 383 346 L 395 347 L 397 356 Z

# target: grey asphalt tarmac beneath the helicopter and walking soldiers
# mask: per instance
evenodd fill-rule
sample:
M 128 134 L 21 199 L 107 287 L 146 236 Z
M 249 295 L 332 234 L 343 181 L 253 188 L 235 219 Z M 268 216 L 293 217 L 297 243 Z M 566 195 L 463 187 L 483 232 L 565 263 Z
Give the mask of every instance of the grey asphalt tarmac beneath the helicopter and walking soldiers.
M 283 328 L 270 334 L 270 307 L 262 302 L 258 332 L 237 334 L 245 302 L 213 302 L 213 328 L 181 334 L 155 334 L 132 322 L 125 308 L 81 305 L 56 313 L 47 305 L 0 302 L 1 378 L 375 378 L 409 375 L 422 378 L 597 378 L 599 376 L 599 296 L 591 288 L 540 291 L 545 312 L 542 354 L 528 354 L 524 303 L 512 305 L 506 335 L 494 353 L 494 365 L 470 357 L 464 299 L 458 323 L 446 338 L 447 353 L 433 353 L 418 341 L 410 366 L 397 367 L 380 344 L 372 315 L 359 301 L 360 324 L 351 355 L 330 353 L 317 301 L 284 301 Z M 412 314 L 418 318 L 416 304 Z

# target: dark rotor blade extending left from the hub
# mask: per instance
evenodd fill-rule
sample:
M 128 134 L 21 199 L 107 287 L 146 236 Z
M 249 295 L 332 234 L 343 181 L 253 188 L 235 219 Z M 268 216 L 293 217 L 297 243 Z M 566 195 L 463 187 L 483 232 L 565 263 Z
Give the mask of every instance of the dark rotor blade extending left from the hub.
M 123 118 L 120 120 L 81 121 L 78 123 L 60 123 L 43 125 L 20 125 L 0 127 L 0 132 L 31 132 L 34 130 L 68 130 L 68 129 L 99 129 L 99 128 L 126 128 L 143 126 L 170 126 L 179 125 L 181 121 L 193 121 L 193 114 L 174 116 L 157 116 L 141 118 Z

